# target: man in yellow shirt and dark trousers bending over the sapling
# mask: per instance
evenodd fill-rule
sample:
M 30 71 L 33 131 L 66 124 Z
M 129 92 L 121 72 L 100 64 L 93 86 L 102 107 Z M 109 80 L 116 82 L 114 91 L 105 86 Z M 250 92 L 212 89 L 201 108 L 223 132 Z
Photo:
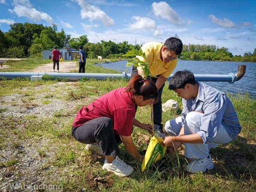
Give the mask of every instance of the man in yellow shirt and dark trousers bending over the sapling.
M 140 61 L 148 62 L 150 67 L 151 79 L 156 83 L 159 92 L 159 101 L 153 105 L 154 112 L 154 130 L 157 134 L 163 133 L 162 122 L 162 92 L 165 86 L 165 80 L 171 75 L 177 65 L 178 55 L 182 52 L 183 44 L 179 38 L 170 37 L 165 43 L 148 42 L 141 50 L 145 53 L 145 59 L 142 56 L 136 56 Z M 144 71 L 141 67 L 132 68 L 131 77 L 134 74 L 140 74 L 144 77 Z M 160 134 L 161 136 L 161 134 Z

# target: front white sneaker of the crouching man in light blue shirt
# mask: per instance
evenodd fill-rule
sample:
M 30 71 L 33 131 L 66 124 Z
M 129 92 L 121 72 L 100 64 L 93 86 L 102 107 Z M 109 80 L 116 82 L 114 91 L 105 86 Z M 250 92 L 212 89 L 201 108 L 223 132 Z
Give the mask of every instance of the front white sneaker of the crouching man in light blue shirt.
M 213 169 L 214 164 L 212 157 L 209 155 L 207 158 L 199 158 L 193 160 L 187 166 L 187 172 L 196 173 L 196 172 L 205 172 L 207 169 Z

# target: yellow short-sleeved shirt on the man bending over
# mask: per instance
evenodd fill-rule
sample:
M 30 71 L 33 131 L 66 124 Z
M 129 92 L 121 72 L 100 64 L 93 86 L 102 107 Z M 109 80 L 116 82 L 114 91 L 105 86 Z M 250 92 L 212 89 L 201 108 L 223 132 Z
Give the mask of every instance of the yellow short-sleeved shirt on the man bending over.
M 139 58 L 140 61 L 148 62 L 148 66 L 151 66 L 151 76 L 158 76 L 159 74 L 162 74 L 163 77 L 168 78 L 176 67 L 178 61 L 175 59 L 167 63 L 163 62 L 160 58 L 162 46 L 163 43 L 145 43 L 141 47 L 141 50 L 145 53 L 146 59 L 144 59 L 142 56 L 136 56 L 136 58 Z M 138 70 L 142 70 L 142 68 L 142 66 L 139 66 Z

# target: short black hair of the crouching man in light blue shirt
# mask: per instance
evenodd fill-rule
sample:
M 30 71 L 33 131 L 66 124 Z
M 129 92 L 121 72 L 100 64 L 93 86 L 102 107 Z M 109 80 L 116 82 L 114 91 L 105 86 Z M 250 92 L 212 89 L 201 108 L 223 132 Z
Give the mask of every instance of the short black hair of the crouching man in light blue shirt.
M 177 71 L 171 77 L 168 89 L 175 91 L 176 89 L 184 89 L 187 84 L 195 85 L 196 83 L 195 76 L 190 71 Z

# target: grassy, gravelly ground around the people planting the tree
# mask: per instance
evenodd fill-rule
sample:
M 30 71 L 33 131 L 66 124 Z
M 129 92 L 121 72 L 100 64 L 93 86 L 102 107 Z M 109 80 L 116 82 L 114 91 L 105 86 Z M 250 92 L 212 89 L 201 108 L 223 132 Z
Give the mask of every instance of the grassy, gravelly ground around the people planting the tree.
M 44 62 L 40 59 L 33 64 L 11 61 L 10 65 L 16 69 L 11 67 L 9 71 L 17 71 L 17 66 L 18 71 L 25 71 Z M 97 61 L 94 59 L 86 65 L 87 73 L 118 73 L 96 67 L 93 62 Z M 243 128 L 235 140 L 212 149 L 210 153 L 215 169 L 205 173 L 187 173 L 184 148 L 181 148 L 174 154 L 165 155 L 161 169 L 156 166 L 142 172 L 141 164 L 120 145 L 120 158 L 135 169 L 131 176 L 122 178 L 103 170 L 104 158 L 94 151 L 85 151 L 85 145 L 73 139 L 71 127 L 76 112 L 82 106 L 115 88 L 126 86 L 127 80 L 66 82 L 65 79 L 49 79 L 34 82 L 29 79 L 0 80 L 0 150 L 3 151 L 0 154 L 0 189 L 8 182 L 44 182 L 61 185 L 62 191 L 256 190 L 256 101 L 249 95 L 229 95 Z M 181 113 L 181 98 L 165 86 L 163 103 L 169 99 L 178 101 L 180 110 L 163 112 L 163 124 Z M 39 107 L 40 112 L 37 110 Z M 45 112 L 46 109 L 50 110 Z M 151 124 L 150 107 L 139 107 L 136 118 Z M 132 137 L 139 151 L 147 149 L 151 138 L 147 132 L 135 128 Z M 32 150 L 29 158 L 34 159 L 30 168 L 26 166 L 29 150 Z

